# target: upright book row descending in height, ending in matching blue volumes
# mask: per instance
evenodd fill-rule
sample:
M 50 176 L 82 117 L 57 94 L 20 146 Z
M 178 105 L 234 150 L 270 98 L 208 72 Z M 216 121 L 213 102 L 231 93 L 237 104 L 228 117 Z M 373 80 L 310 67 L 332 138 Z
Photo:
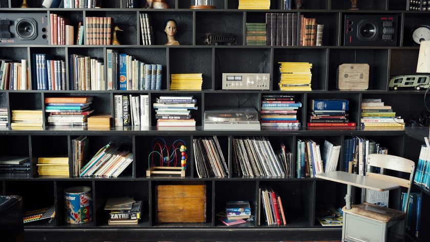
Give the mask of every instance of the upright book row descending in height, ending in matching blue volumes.
M 161 90 L 163 66 L 106 50 L 107 90 Z

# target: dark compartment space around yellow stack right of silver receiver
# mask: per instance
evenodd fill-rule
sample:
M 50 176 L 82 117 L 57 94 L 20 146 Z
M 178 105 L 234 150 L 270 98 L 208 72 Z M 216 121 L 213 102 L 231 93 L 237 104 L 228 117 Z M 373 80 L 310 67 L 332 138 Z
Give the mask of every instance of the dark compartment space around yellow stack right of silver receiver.
M 279 90 L 278 62 L 309 62 L 312 63 L 312 81 L 311 88 L 315 90 L 327 90 L 327 49 L 274 49 L 273 57 L 273 90 Z

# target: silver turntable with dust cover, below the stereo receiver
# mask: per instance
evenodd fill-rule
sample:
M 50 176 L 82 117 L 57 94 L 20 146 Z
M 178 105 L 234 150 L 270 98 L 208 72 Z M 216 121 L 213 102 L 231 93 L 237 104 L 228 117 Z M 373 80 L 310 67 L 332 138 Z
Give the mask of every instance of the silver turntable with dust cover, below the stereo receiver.
M 252 107 L 205 111 L 205 130 L 260 130 L 258 112 Z

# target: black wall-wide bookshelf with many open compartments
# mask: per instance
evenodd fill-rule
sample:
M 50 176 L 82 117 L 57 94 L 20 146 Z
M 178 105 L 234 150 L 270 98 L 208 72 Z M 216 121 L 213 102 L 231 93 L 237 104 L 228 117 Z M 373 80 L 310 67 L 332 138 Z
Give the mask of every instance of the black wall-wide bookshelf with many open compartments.
M 19 3 L 18 3 L 19 2 Z M 374 139 L 389 148 L 392 155 L 418 160 L 422 137 L 428 136 L 428 129 L 420 127 L 360 128 L 360 103 L 363 98 L 382 98 L 392 105 L 395 112 L 403 119 L 414 119 L 422 112 L 425 91 L 390 91 L 390 76 L 414 74 L 419 47 L 412 44 L 410 31 L 420 21 L 428 18 L 429 12 L 406 11 L 405 0 L 358 1 L 358 11 L 348 10 L 349 1 L 343 0 L 307 0 L 301 10 L 283 10 L 282 0 L 271 0 L 270 10 L 238 10 L 237 0 L 217 2 L 217 9 L 188 9 L 190 1 L 167 0 L 169 9 L 144 9 L 144 1 L 135 9 L 120 9 L 119 1 L 103 1 L 100 9 L 63 9 L 40 8 L 41 0 L 30 1 L 30 8 L 21 9 L 20 1 L 0 0 L 1 13 L 57 13 L 69 18 L 72 24 L 83 22 L 87 16 L 109 16 L 113 22 L 125 30 L 119 35 L 123 45 L 1 45 L 0 57 L 19 60 L 27 59 L 30 72 L 33 73 L 32 54 L 45 53 L 56 59 L 66 61 L 70 66 L 69 55 L 85 54 L 102 58 L 106 66 L 106 49 L 131 54 L 140 60 L 152 61 L 163 65 L 161 91 L 73 91 L 69 75 L 67 91 L 38 91 L 32 86 L 28 91 L 0 91 L 0 105 L 8 107 L 9 120 L 11 110 L 15 108 L 41 109 L 45 97 L 57 96 L 94 96 L 93 106 L 98 113 L 113 115 L 115 94 L 147 94 L 149 100 L 163 94 L 193 95 L 198 100 L 199 109 L 194 113 L 196 130 L 157 130 L 154 112 L 149 127 L 125 126 L 97 129 L 87 127 L 49 126 L 44 114 L 41 130 L 11 130 L 0 128 L 0 155 L 31 157 L 30 174 L 0 173 L 0 194 L 19 194 L 24 197 L 25 209 L 55 204 L 57 217 L 51 223 L 26 225 L 28 241 L 222 241 L 222 240 L 335 240 L 341 235 L 341 227 L 322 227 L 315 221 L 315 208 L 320 205 L 342 206 L 346 186 L 320 179 L 296 178 L 244 178 L 232 173 L 233 136 L 267 136 L 273 148 L 284 142 L 295 160 L 297 139 L 312 138 L 318 143 L 325 139 L 343 143 L 350 136 L 364 136 Z M 265 13 L 297 13 L 306 17 L 316 17 L 325 25 L 323 46 L 318 47 L 279 47 L 246 46 L 245 23 L 247 21 L 265 21 Z M 139 14 L 148 13 L 153 19 L 155 45 L 143 46 L 140 34 Z M 349 47 L 342 46 L 342 23 L 345 14 L 394 14 L 399 17 L 398 45 L 396 47 Z M 164 46 L 162 23 L 165 19 L 178 20 L 180 30 L 178 40 L 181 46 Z M 49 25 L 48 25 L 49 26 Z M 238 37 L 237 46 L 205 46 L 202 36 L 205 32 L 231 32 Z M 85 39 L 85 38 L 84 38 Z M 85 43 L 85 42 L 84 42 Z M 354 128 L 307 128 L 276 129 L 262 128 L 261 131 L 204 129 L 204 111 L 211 107 L 236 107 L 239 104 L 261 109 L 260 100 L 264 94 L 282 94 L 277 90 L 279 77 L 278 61 L 312 62 L 311 92 L 288 92 L 303 103 L 297 117 L 302 125 L 306 124 L 307 102 L 311 98 L 330 97 L 350 100 L 350 119 L 357 123 Z M 341 63 L 369 63 L 369 90 L 338 91 L 335 87 L 336 69 Z M 247 63 L 244 65 L 243 63 Z M 67 71 L 69 68 L 67 68 Z M 225 91 L 221 87 L 221 75 L 225 72 L 265 72 L 271 75 L 271 87 L 268 91 Z M 203 73 L 201 92 L 170 91 L 169 75 L 175 73 Z M 106 75 L 106 73 L 104 73 Z M 34 78 L 30 75 L 31 79 Z M 106 79 L 106 76 L 105 76 Z M 239 103 L 239 104 L 238 104 Z M 119 141 L 129 150 L 133 150 L 135 160 L 118 178 L 64 178 L 44 177 L 37 174 L 37 157 L 48 155 L 69 155 L 71 140 L 86 135 L 91 142 L 91 155 L 109 141 Z M 225 178 L 199 179 L 193 161 L 191 140 L 195 136 L 217 135 L 228 161 L 230 174 Z M 184 178 L 150 177 L 147 178 L 148 142 L 155 137 L 166 139 L 184 139 L 188 146 L 188 168 Z M 344 147 L 342 147 L 341 154 Z M 343 169 L 343 156 L 339 158 L 338 169 Z M 207 187 L 207 221 L 203 224 L 157 224 L 155 219 L 155 194 L 157 184 L 201 183 Z M 64 222 L 63 189 L 70 186 L 89 186 L 93 191 L 93 221 L 81 225 L 69 225 Z M 258 188 L 261 185 L 272 186 L 285 201 L 287 225 L 258 225 L 262 213 L 259 206 Z M 422 191 L 422 212 L 430 205 L 428 189 L 415 186 Z M 240 191 L 240 192 L 237 192 Z M 48 199 L 35 199 L 37 196 Z M 107 215 L 103 210 L 109 196 L 134 195 L 144 200 L 143 218 L 136 226 L 108 226 Z M 222 210 L 227 200 L 249 200 L 255 221 L 238 227 L 226 227 L 219 223 L 216 213 Z M 390 199 L 391 200 L 391 199 Z M 26 202 L 30 201 L 30 202 Z M 395 203 L 394 203 L 395 204 Z M 393 203 L 390 206 L 395 207 Z M 430 235 L 425 233 L 427 218 L 422 216 L 422 233 L 418 238 L 408 236 L 411 241 L 427 241 Z

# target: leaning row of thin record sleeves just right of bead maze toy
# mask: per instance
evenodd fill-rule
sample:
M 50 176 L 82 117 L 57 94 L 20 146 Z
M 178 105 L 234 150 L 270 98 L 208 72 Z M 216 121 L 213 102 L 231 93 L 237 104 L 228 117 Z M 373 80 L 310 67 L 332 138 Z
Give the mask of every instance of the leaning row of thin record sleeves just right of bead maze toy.
M 199 178 L 228 175 L 228 165 L 217 136 L 194 138 L 193 149 Z

